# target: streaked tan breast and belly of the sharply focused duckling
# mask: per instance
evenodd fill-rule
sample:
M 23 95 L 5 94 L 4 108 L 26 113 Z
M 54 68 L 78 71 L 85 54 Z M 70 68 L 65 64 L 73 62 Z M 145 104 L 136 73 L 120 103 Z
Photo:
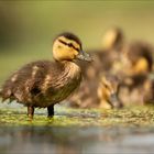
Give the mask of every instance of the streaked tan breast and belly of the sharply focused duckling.
M 35 98 L 35 106 L 47 107 L 67 98 L 81 81 L 81 70 L 73 62 L 65 62 L 64 70 L 53 77 L 46 75 L 42 85 L 42 94 Z M 42 100 L 42 101 L 41 101 Z

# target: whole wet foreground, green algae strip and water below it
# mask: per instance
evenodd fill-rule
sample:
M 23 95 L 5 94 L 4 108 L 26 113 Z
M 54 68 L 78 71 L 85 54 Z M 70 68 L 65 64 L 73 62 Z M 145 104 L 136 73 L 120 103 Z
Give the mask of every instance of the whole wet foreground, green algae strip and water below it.
M 153 153 L 154 108 L 77 110 L 56 107 L 53 119 L 36 110 L 33 121 L 26 109 L 0 109 L 1 154 Z

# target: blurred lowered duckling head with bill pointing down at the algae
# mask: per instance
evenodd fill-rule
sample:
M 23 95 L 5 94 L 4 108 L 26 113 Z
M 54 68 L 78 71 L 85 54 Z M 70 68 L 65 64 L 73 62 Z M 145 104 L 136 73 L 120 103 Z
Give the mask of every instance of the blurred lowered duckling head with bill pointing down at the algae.
M 119 79 L 114 76 L 102 76 L 98 87 L 100 102 L 108 102 L 108 108 L 121 108 L 122 103 L 118 98 Z M 101 105 L 103 108 L 103 105 Z M 105 106 L 106 107 L 106 106 Z

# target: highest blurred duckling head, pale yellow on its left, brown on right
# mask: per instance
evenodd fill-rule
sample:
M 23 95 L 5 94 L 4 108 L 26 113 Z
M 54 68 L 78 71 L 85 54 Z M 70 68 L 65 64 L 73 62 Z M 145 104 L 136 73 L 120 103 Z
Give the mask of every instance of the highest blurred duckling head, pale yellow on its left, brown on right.
M 110 28 L 102 37 L 103 50 L 121 50 L 123 45 L 123 32 L 120 28 Z

